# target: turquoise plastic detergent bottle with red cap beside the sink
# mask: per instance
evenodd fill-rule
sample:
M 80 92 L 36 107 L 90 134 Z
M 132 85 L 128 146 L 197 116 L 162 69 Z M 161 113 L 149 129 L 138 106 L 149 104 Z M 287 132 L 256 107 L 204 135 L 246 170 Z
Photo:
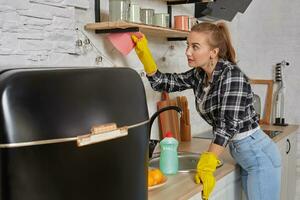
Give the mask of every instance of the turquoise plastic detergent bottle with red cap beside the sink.
M 176 174 L 178 171 L 178 141 L 172 137 L 171 132 L 167 132 L 165 138 L 159 143 L 160 158 L 159 168 L 163 174 Z

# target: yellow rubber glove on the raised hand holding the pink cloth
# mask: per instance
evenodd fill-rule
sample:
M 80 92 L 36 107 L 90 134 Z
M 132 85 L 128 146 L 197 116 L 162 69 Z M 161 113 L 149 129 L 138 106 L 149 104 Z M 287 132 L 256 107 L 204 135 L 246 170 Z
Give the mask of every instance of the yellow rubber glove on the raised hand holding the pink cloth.
M 155 73 L 157 71 L 157 66 L 152 57 L 150 49 L 148 48 L 148 41 L 146 39 L 146 36 L 143 34 L 141 38 L 138 38 L 136 35 L 131 35 L 131 38 L 136 44 L 135 52 L 139 57 L 140 61 L 143 63 L 146 73 Z

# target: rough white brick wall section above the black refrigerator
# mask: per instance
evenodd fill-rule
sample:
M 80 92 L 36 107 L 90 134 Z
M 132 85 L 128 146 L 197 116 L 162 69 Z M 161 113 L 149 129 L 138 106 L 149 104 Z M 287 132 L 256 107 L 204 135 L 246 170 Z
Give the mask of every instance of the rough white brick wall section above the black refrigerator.
M 0 65 L 55 66 L 74 57 L 75 7 L 89 8 L 89 1 L 0 0 Z

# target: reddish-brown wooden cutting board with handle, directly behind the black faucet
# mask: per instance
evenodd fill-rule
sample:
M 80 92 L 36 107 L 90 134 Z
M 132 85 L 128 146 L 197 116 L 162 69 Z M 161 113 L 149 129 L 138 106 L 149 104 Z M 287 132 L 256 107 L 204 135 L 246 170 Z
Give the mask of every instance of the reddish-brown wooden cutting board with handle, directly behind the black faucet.
M 170 99 L 167 92 L 162 92 L 162 100 L 157 102 L 157 109 L 160 110 L 167 106 L 177 106 L 176 99 Z M 179 129 L 179 117 L 175 110 L 168 110 L 159 115 L 160 139 L 164 138 L 164 134 L 171 131 L 173 137 L 179 142 L 181 141 Z

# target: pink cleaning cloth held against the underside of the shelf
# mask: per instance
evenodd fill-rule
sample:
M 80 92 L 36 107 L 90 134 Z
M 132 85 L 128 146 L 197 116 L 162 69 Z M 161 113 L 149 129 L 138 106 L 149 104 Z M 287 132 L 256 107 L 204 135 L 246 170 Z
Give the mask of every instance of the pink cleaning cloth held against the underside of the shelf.
M 138 38 L 143 37 L 141 32 L 110 33 L 107 37 L 114 47 L 126 56 L 135 47 L 135 43 L 131 39 L 132 34 Z

